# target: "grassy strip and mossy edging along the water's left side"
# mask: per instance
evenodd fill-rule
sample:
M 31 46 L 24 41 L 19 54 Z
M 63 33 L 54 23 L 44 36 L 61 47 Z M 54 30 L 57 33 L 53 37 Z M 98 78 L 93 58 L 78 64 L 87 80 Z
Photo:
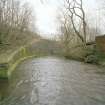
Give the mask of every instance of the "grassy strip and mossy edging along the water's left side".
M 21 61 L 35 56 L 34 53 L 29 51 L 28 46 L 0 54 L 0 78 L 9 78 L 12 71 Z

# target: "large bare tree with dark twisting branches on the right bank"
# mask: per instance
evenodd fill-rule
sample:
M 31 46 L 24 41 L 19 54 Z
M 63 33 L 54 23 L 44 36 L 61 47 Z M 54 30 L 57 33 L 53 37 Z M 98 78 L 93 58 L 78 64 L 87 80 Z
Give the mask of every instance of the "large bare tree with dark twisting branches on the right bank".
M 82 0 L 65 0 L 65 7 L 68 12 L 68 16 L 72 22 L 73 29 L 76 35 L 81 39 L 81 41 L 86 44 L 86 21 L 85 21 L 85 11 L 83 9 Z M 82 33 L 79 27 L 75 24 L 75 19 L 80 20 Z

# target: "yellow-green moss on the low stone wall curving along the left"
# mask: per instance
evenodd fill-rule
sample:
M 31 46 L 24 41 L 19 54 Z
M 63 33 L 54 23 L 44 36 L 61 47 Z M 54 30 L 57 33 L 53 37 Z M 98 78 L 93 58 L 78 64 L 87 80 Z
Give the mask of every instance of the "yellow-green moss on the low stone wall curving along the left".
M 27 53 L 28 47 L 21 47 L 20 49 L 14 51 L 11 55 L 8 55 L 9 58 L 7 62 L 4 62 L 0 67 L 0 78 L 9 78 L 15 70 L 16 66 L 23 60 L 29 57 L 35 57 L 33 54 Z

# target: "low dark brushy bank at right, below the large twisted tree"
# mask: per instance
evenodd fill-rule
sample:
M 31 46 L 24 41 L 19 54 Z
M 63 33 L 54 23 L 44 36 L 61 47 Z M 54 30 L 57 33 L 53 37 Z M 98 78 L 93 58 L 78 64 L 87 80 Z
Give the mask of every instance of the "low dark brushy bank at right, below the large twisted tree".
M 89 46 L 85 50 L 82 47 L 77 47 L 70 50 L 64 56 L 67 59 L 105 66 L 105 54 L 94 46 Z

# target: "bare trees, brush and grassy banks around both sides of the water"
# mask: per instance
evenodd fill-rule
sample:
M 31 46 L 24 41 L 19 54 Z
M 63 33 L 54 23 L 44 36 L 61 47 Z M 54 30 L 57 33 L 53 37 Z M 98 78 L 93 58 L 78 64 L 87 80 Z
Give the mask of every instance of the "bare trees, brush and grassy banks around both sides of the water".
M 61 35 L 56 41 L 41 38 L 33 31 L 35 19 L 28 3 L 0 0 L 0 75 L 5 77 L 11 65 L 33 55 L 63 55 L 98 64 L 105 61 L 105 54 L 95 47 L 95 37 L 101 32 L 90 27 L 83 0 L 64 1 L 59 18 Z

